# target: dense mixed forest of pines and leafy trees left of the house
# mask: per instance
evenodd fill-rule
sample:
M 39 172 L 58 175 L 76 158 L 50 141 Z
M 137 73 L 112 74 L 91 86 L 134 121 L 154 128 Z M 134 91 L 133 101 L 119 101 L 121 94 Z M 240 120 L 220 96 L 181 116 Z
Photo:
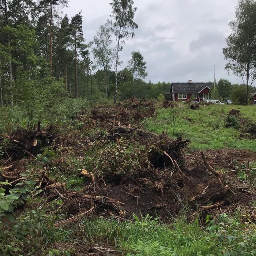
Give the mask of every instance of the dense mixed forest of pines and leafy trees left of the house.
M 71 97 L 113 98 L 120 51 L 124 39 L 133 37 L 138 25 L 128 24 L 136 8 L 127 1 L 126 29 L 118 35 L 118 12 L 95 32 L 93 42 L 83 35 L 82 12 L 74 17 L 61 13 L 68 1 L 2 1 L 0 9 L 0 104 L 22 103 L 34 108 L 35 99 Z M 120 39 L 114 46 L 113 38 Z M 119 50 L 119 53 L 117 52 Z M 124 63 L 124 65 L 126 65 Z M 127 67 L 117 73 L 118 99 L 157 97 L 167 83 L 146 83 L 146 62 L 140 52 L 131 53 Z

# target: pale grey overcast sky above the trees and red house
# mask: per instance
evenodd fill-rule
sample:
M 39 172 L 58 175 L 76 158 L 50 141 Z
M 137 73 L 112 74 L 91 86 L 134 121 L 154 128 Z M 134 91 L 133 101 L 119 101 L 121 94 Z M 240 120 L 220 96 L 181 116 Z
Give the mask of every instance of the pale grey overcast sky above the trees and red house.
M 63 11 L 71 17 L 82 10 L 84 37 L 90 42 L 109 18 L 109 2 L 70 0 L 69 8 Z M 139 27 L 120 54 L 123 68 L 131 52 L 139 50 L 147 62 L 146 81 L 213 81 L 216 65 L 217 80 L 241 83 L 241 79 L 227 75 L 222 54 L 236 5 L 237 0 L 134 0 Z

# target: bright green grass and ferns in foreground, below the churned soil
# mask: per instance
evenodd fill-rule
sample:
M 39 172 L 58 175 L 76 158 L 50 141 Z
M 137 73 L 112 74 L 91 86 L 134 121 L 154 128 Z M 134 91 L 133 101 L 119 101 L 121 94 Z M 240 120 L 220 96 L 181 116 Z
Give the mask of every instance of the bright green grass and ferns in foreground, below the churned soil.
M 160 224 L 157 219 L 146 215 L 134 216 L 133 223 L 114 219 L 84 220 L 78 229 L 83 230 L 86 239 L 94 244 L 108 241 L 128 256 L 221 256 L 223 252 L 226 255 L 254 255 L 256 233 L 253 226 L 247 229 L 247 223 L 243 225 L 238 219 L 224 216 L 214 223 L 208 215 L 207 230 L 198 221 L 188 223 L 182 215 L 171 225 Z M 242 251 L 247 254 L 242 254 Z

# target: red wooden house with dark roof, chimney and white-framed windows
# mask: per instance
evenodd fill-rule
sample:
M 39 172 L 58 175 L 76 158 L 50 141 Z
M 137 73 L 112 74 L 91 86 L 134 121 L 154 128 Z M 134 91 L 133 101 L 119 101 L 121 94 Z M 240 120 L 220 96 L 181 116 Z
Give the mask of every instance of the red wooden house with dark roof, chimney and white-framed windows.
M 171 83 L 170 93 L 165 94 L 172 101 L 204 101 L 208 99 L 212 83 Z

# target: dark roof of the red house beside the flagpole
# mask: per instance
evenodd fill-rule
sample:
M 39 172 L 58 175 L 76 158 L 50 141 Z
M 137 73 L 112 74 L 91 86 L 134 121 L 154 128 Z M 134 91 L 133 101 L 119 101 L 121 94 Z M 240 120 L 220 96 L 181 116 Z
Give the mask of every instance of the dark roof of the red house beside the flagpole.
M 212 83 L 171 83 L 170 93 L 172 87 L 174 93 L 188 93 L 196 94 L 202 91 L 206 86 L 211 88 Z

